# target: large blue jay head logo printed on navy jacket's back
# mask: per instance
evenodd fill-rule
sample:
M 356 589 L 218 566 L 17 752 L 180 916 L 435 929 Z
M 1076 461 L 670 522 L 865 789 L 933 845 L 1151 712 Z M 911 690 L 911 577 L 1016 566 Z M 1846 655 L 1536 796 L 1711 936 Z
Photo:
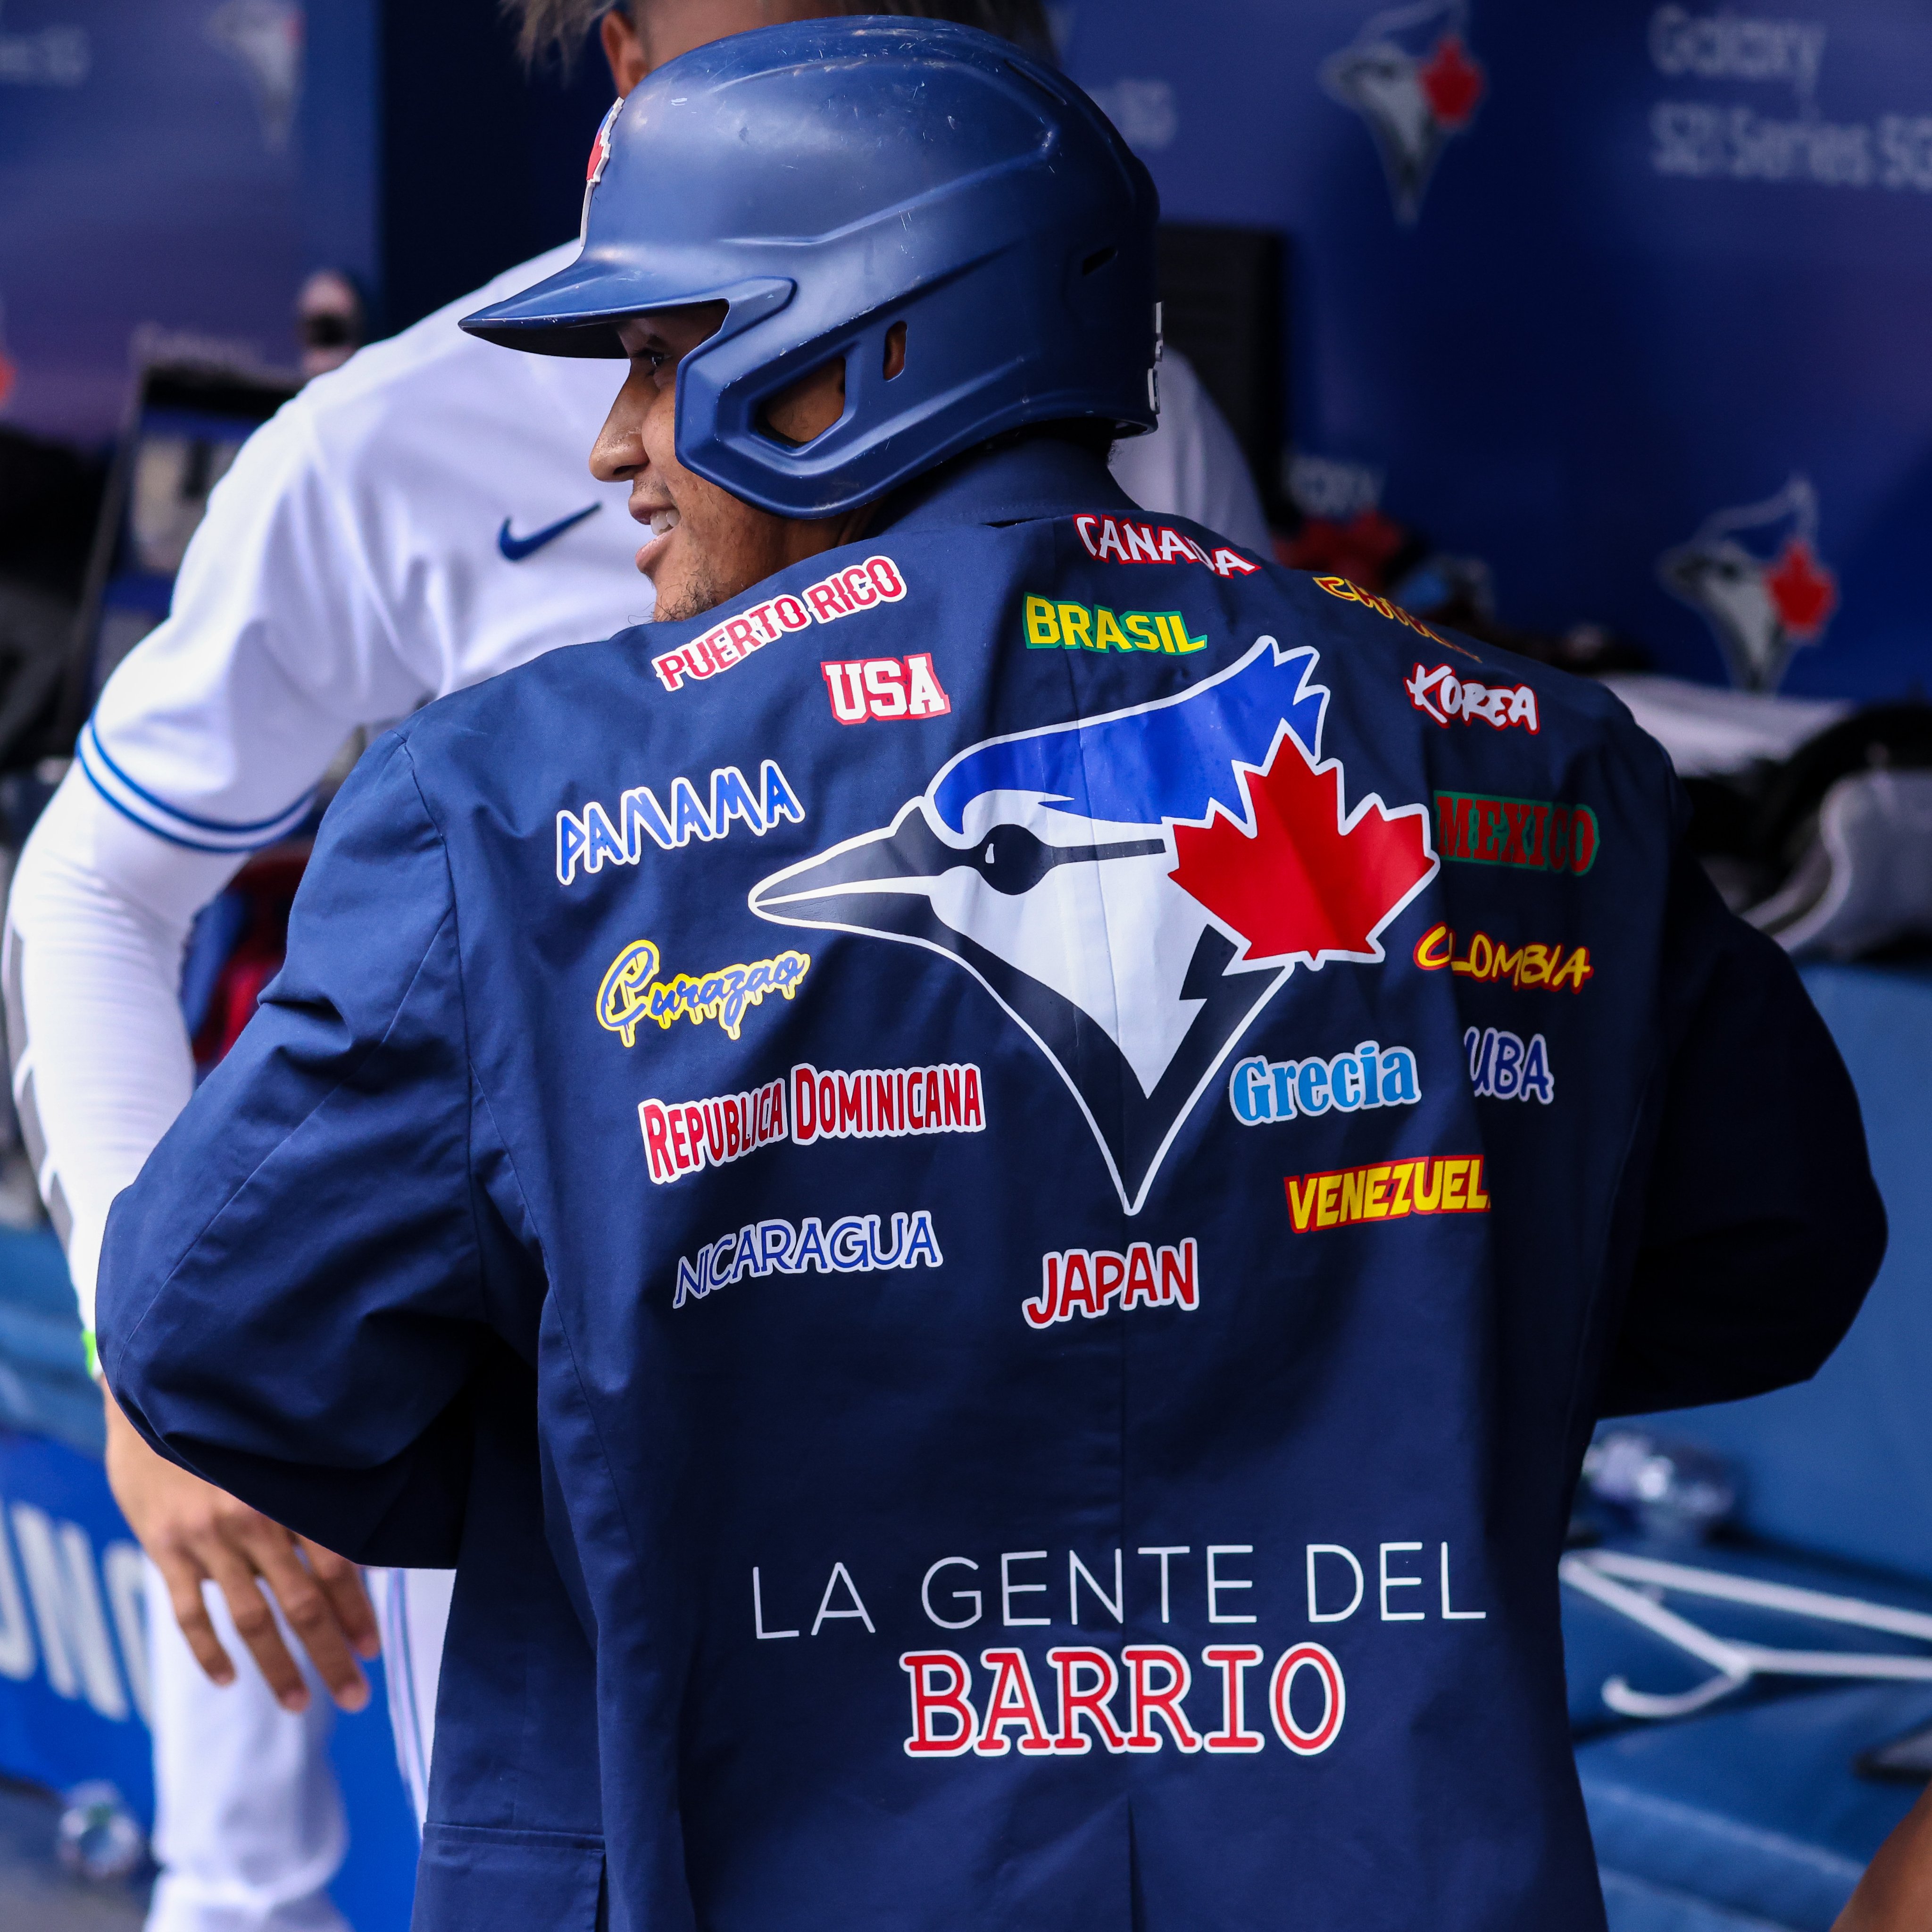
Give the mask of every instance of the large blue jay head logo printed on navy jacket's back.
M 1066 1082 L 1138 1213 L 1294 968 L 1379 962 L 1435 877 L 1428 806 L 1349 810 L 1314 668 L 1258 638 L 1177 697 L 970 746 L 891 825 L 761 879 L 750 906 L 964 966 Z

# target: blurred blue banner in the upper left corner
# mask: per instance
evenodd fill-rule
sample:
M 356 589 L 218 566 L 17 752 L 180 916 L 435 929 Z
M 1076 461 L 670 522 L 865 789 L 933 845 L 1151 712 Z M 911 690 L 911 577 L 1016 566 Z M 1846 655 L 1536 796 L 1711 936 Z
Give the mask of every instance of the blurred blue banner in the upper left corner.
M 294 363 L 301 81 L 296 0 L 8 0 L 0 421 L 110 435 L 137 350 Z

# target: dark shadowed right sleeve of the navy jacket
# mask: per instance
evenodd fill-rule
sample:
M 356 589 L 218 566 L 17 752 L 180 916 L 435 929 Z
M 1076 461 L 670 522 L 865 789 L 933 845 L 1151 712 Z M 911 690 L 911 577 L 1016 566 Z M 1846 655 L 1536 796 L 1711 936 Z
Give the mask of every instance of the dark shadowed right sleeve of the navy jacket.
M 1662 972 L 1665 1065 L 1600 1414 L 1804 1381 L 1886 1252 L 1859 1097 L 1818 1009 L 1685 852 Z

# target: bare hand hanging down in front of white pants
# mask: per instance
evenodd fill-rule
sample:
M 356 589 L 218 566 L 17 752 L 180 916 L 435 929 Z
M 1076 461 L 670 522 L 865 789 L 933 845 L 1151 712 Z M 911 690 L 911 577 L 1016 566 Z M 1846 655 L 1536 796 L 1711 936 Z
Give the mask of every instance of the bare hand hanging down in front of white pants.
M 276 1702 L 284 1710 L 307 1708 L 309 1687 L 282 1642 L 263 1596 L 267 1586 L 315 1660 L 328 1694 L 342 1710 L 361 1710 L 369 1702 L 369 1679 L 355 1656 L 373 1658 L 381 1646 L 355 1565 L 156 1455 L 114 1397 L 106 1389 L 100 1393 L 108 1418 L 108 1488 L 166 1580 L 174 1619 L 195 1662 L 214 1683 L 234 1683 L 234 1660 L 214 1634 L 201 1598 L 203 1580 L 213 1580 L 228 1598 L 236 1631 Z

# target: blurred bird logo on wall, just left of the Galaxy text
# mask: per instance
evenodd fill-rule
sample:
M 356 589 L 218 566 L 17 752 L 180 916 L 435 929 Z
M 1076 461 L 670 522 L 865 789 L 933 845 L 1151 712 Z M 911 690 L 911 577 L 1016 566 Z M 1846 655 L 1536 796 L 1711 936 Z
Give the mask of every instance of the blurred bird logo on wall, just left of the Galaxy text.
M 1466 0 L 1389 8 L 1321 62 L 1321 85 L 1368 122 L 1405 224 L 1422 213 L 1435 162 L 1453 135 L 1468 131 L 1488 85 L 1468 52 L 1466 21 Z

